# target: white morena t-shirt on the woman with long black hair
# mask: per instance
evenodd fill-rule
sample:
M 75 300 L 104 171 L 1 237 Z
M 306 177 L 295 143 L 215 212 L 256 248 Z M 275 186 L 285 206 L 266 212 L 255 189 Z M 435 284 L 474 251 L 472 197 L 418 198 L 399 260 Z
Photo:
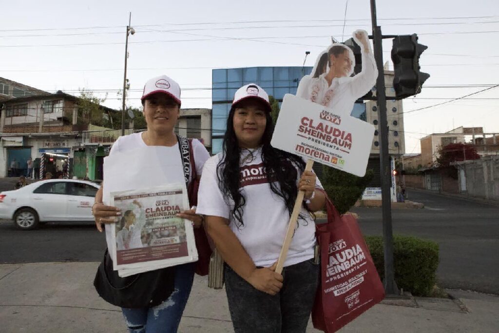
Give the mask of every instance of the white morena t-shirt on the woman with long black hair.
M 246 198 L 243 207 L 244 226 L 238 228 L 237 220 L 231 212 L 232 199 L 224 200 L 219 188 L 217 165 L 222 154 L 211 157 L 203 170 L 198 192 L 196 213 L 220 216 L 229 219 L 229 226 L 236 234 L 246 252 L 256 266 L 271 266 L 279 258 L 282 242 L 289 223 L 289 211 L 284 201 L 270 189 L 263 171 L 261 149 L 253 152 L 253 159 L 247 159 L 248 151 L 243 151 L 241 161 L 241 187 Z M 296 180 L 298 183 L 299 177 Z M 317 178 L 316 187 L 321 187 Z M 314 256 L 315 223 L 310 214 L 302 208 L 305 220 L 298 220 L 284 266 L 290 266 L 311 259 Z

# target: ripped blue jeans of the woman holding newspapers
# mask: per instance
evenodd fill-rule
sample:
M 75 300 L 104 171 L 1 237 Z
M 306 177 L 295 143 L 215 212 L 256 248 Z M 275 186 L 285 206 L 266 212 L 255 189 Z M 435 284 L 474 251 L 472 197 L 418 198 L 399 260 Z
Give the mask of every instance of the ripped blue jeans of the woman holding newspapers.
M 194 281 L 193 263 L 175 268 L 175 289 L 172 295 L 153 308 L 121 308 L 130 333 L 177 332 Z

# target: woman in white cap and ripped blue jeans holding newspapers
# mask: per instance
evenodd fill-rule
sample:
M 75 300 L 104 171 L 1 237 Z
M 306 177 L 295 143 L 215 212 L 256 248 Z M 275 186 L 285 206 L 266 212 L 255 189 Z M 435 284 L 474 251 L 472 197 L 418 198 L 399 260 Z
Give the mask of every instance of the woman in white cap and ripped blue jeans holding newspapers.
M 109 155 L 146 146 L 165 146 L 168 148 L 167 154 L 171 155 L 171 160 L 179 161 L 179 168 L 183 169 L 180 142 L 174 133 L 174 127 L 180 117 L 181 100 L 178 83 L 166 75 L 154 77 L 146 82 L 141 100 L 147 130 L 119 137 Z M 203 165 L 210 155 L 203 144 L 196 139 L 192 140 L 192 150 L 197 174 L 201 175 Z M 191 170 L 189 183 L 193 181 L 192 174 Z M 102 203 L 102 188 L 97 192 L 92 213 L 100 232 L 102 232 L 102 223 L 115 223 L 116 216 L 121 215 L 118 208 Z M 178 216 L 193 221 L 195 227 L 199 227 L 203 222 L 203 217 L 195 214 L 195 210 L 184 211 Z M 122 308 L 130 332 L 177 332 L 191 292 L 194 264 L 175 266 L 172 272 L 175 275 L 171 279 L 174 286 L 170 286 L 173 287 L 171 288 L 173 293 L 171 292 L 166 299 L 160 300 L 161 304 L 150 308 Z

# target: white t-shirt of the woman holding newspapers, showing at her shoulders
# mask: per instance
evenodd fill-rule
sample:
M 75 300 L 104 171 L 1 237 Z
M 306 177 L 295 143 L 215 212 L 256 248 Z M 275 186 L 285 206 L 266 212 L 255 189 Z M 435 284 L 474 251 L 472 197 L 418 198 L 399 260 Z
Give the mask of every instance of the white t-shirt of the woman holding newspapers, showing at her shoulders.
M 137 149 L 140 147 L 146 147 L 146 143 L 142 140 L 142 133 L 133 133 L 125 136 L 120 136 L 116 142 L 114 142 L 111 150 L 109 151 L 109 155 L 112 155 L 114 152 L 124 152 L 131 149 Z M 182 168 L 182 159 L 180 156 L 180 150 L 178 143 L 171 146 L 165 147 L 167 148 L 167 154 L 171 155 L 173 161 L 178 161 L 179 168 Z M 196 172 L 198 176 L 203 172 L 203 166 L 210 158 L 210 154 L 206 150 L 205 146 L 198 140 L 192 140 L 192 150 L 194 155 L 194 162 L 196 163 Z M 192 171 L 189 176 L 189 182 L 192 179 Z

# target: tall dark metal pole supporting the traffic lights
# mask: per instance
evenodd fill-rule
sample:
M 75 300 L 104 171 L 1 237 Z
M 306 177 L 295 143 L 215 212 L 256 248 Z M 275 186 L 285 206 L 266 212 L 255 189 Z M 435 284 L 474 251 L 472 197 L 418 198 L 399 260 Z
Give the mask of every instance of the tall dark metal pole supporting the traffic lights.
M 383 35 L 381 27 L 376 20 L 376 0 L 371 0 L 371 21 L 373 28 L 374 58 L 378 67 L 376 80 L 376 100 L 379 112 L 380 133 L 380 177 L 381 177 L 381 202 L 383 213 L 383 250 L 385 262 L 385 279 L 383 285 L 387 295 L 398 295 L 395 283 L 393 265 L 393 232 L 392 232 L 392 207 L 391 207 L 391 167 L 388 155 L 388 122 L 386 120 L 386 88 L 385 71 L 383 69 Z

